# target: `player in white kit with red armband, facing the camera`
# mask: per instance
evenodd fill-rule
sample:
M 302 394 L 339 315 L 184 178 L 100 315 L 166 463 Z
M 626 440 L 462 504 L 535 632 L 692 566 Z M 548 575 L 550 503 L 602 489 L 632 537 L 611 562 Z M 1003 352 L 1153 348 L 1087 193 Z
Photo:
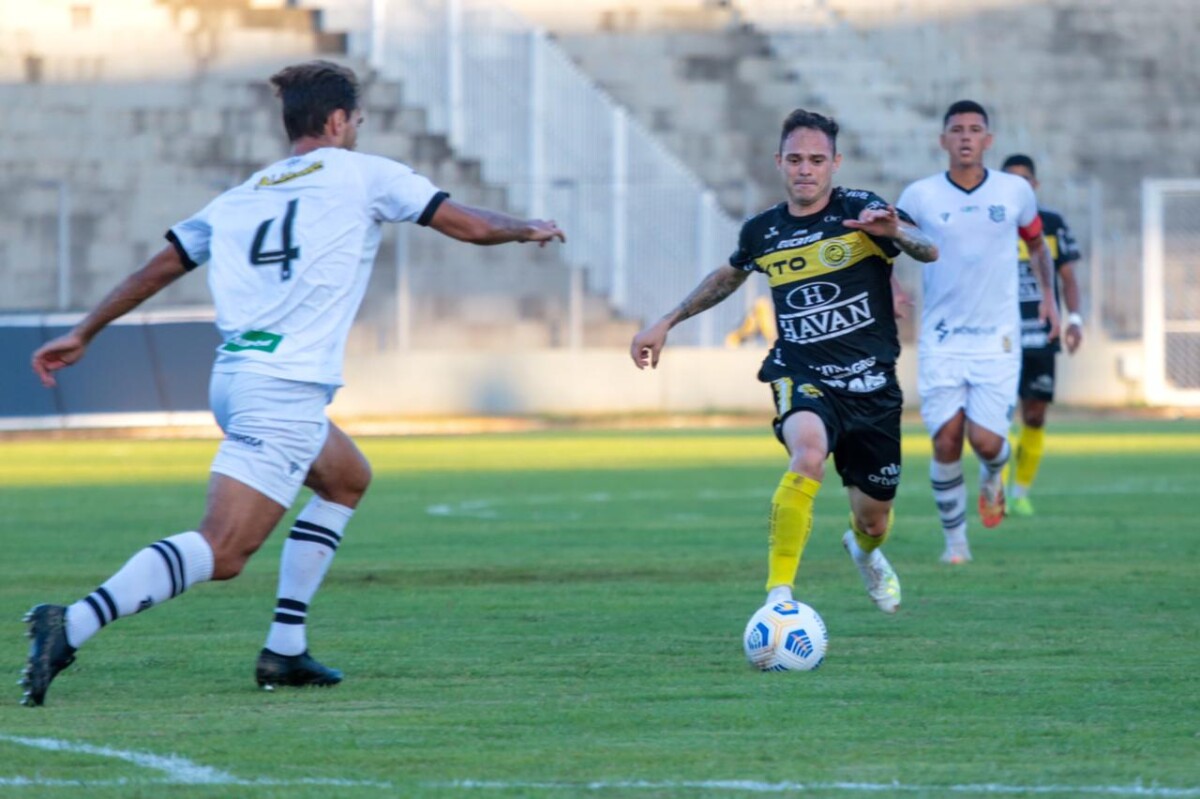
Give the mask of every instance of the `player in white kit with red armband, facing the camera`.
M 1054 266 L 1028 182 L 991 172 L 988 112 L 953 103 L 942 120 L 949 170 L 912 184 L 896 206 L 937 244 L 926 263 L 918 337 L 920 415 L 934 443 L 930 482 L 946 536 L 942 561 L 971 560 L 962 444 L 979 457 L 979 516 L 984 527 L 1004 517 L 1008 427 L 1021 371 L 1018 238 L 1025 241 L 1042 289 L 1039 317 L 1058 334 Z

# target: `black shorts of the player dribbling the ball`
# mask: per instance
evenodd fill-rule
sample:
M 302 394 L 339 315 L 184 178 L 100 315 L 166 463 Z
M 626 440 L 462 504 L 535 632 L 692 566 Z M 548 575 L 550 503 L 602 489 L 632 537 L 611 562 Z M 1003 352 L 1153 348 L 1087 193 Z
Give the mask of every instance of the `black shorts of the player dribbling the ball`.
M 904 394 L 889 385 L 863 395 L 834 394 L 820 383 L 784 377 L 770 382 L 775 400 L 775 438 L 784 441 L 784 422 L 806 410 L 826 426 L 829 452 L 844 486 L 856 486 L 881 501 L 895 498 L 900 486 L 900 411 Z

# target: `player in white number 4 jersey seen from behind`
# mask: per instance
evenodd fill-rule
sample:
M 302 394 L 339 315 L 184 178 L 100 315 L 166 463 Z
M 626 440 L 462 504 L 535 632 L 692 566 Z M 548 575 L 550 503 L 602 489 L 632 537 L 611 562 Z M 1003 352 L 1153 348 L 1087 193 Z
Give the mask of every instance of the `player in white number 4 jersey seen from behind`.
M 292 154 L 174 226 L 168 245 L 71 332 L 34 353 L 47 386 L 89 342 L 175 280 L 208 264 L 223 343 L 210 400 L 224 432 L 204 518 L 136 553 L 94 593 L 26 617 L 24 703 L 40 705 L 76 649 L 107 624 L 209 579 L 236 577 L 295 500 L 313 497 L 283 546 L 275 618 L 256 663 L 263 687 L 334 685 L 338 669 L 308 654 L 308 603 L 371 482 L 354 441 L 325 416 L 342 384 L 350 323 L 384 222 L 415 222 L 478 245 L 554 239 L 553 222 L 460 205 L 409 167 L 354 152 L 362 124 L 354 72 L 329 61 L 271 78 Z

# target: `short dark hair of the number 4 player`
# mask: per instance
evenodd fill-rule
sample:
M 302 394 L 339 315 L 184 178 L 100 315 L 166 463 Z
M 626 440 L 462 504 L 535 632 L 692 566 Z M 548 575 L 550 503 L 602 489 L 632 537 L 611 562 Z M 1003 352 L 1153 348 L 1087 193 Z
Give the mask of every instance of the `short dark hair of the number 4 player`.
M 359 108 L 359 79 L 354 71 L 332 61 L 306 61 L 271 76 L 275 94 L 283 101 L 283 127 L 288 139 L 320 136 L 329 115 L 341 108 Z

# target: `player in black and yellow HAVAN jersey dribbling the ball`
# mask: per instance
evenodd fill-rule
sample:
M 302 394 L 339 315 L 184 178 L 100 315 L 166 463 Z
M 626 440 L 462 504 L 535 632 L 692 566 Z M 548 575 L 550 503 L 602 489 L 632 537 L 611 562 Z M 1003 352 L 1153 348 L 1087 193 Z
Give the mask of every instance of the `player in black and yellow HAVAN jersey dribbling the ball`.
M 658 366 L 671 328 L 730 296 L 750 272 L 764 274 L 779 337 L 758 379 L 770 384 L 775 434 L 791 457 L 772 500 L 767 602 L 793 599 L 832 452 L 850 491 L 842 543 L 871 600 L 893 613 L 900 581 L 880 549 L 900 482 L 892 263 L 900 252 L 935 260 L 937 247 L 876 194 L 834 187 L 841 154 L 838 124 L 828 116 L 792 112 L 775 163 L 787 200 L 746 221 L 730 263 L 637 334 L 630 354 L 638 368 Z

